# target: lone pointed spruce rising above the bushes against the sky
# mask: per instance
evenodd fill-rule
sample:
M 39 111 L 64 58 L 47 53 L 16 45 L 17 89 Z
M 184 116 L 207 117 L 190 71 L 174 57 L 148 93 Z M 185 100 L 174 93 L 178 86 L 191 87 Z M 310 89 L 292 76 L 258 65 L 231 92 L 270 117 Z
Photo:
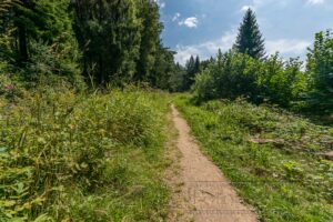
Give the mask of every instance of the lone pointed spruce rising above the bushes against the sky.
M 239 36 L 234 48 L 238 52 L 252 58 L 262 59 L 265 56 L 264 39 L 259 29 L 255 13 L 249 9 L 239 28 Z

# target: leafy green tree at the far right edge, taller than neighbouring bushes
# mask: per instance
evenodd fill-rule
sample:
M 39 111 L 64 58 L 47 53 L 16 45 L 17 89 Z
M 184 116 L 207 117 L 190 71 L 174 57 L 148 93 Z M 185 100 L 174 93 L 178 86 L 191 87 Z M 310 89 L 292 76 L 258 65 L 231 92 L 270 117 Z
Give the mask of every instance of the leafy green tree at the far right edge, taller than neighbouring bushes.
M 332 32 L 315 34 L 313 49 L 307 54 L 306 72 L 312 78 L 309 107 L 314 112 L 333 112 L 333 38 Z

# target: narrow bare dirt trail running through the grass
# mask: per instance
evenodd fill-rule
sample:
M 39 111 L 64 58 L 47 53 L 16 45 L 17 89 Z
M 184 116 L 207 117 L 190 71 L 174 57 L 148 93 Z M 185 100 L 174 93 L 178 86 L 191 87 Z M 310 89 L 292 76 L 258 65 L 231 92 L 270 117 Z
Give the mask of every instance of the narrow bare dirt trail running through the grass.
M 190 127 L 173 105 L 172 120 L 179 131 L 176 147 L 182 154 L 179 176 L 183 185 L 176 195 L 192 205 L 185 210 L 190 212 L 184 213 L 191 214 L 195 222 L 258 221 L 256 214 L 242 203 L 219 168 L 201 153 L 190 135 Z

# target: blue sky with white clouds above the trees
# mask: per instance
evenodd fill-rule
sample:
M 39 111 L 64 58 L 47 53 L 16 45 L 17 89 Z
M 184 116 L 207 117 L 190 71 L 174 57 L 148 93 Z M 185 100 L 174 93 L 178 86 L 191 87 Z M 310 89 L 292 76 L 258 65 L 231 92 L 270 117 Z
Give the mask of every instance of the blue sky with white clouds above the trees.
M 268 53 L 305 58 L 314 33 L 333 28 L 333 0 L 158 0 L 167 47 L 184 63 L 233 44 L 244 11 L 255 10 Z

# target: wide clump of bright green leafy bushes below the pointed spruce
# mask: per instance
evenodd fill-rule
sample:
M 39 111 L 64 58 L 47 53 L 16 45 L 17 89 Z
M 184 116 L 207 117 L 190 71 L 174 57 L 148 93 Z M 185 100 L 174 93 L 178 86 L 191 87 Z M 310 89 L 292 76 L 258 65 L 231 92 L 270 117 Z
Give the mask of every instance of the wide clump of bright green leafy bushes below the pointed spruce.
M 306 75 L 300 71 L 302 62 L 282 61 L 279 54 L 256 60 L 248 54 L 219 52 L 215 61 L 196 77 L 194 90 L 198 101 L 244 97 L 254 103 L 270 102 L 290 107 L 306 91 Z

